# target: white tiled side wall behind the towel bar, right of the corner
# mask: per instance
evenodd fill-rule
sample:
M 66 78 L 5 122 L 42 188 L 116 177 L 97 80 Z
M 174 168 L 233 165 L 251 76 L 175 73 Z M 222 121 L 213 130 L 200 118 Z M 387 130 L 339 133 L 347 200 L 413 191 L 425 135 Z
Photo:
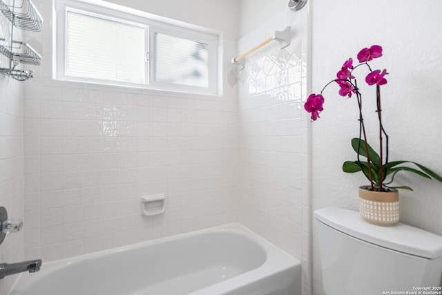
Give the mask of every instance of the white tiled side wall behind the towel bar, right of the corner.
M 240 222 L 302 260 L 311 292 L 311 198 L 307 91 L 308 9 L 283 12 L 238 41 L 245 52 L 291 26 L 291 44 L 273 41 L 238 73 Z

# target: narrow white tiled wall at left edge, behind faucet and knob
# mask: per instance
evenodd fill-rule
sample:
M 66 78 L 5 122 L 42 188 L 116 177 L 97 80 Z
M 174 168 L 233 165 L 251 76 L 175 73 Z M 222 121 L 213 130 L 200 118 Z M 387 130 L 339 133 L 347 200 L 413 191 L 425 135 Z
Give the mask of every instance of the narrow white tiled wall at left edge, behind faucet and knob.
M 9 218 L 23 219 L 23 98 L 21 83 L 0 75 L 0 206 Z M 0 245 L 0 262 L 23 260 L 23 232 Z M 0 280 L 6 294 L 17 276 Z

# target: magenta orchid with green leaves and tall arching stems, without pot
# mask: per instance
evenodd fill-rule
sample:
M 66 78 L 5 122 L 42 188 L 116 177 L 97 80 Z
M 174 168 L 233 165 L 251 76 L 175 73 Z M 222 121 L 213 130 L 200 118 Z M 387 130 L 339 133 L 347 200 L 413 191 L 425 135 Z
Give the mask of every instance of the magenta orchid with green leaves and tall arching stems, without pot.
M 352 139 L 352 148 L 356 151 L 357 160 L 356 161 L 345 161 L 343 164 L 343 171 L 347 173 L 354 173 L 362 171 L 365 177 L 369 180 L 370 185 L 369 190 L 372 191 L 391 191 L 391 189 L 409 189 L 412 191 L 411 187 L 400 186 L 393 187 L 390 186 L 394 180 L 394 176 L 399 171 L 408 171 L 421 175 L 424 178 L 434 178 L 442 182 L 442 177 L 436 174 L 434 171 L 428 169 L 427 167 L 411 161 L 394 161 L 389 162 L 388 159 L 388 135 L 385 132 L 382 123 L 382 111 L 381 111 L 381 86 L 387 84 L 387 70 L 372 70 L 369 66 L 369 61 L 372 59 L 382 56 L 382 47 L 379 45 L 373 45 L 370 48 L 363 48 L 359 51 L 357 59 L 359 64 L 353 66 L 353 59 L 350 57 L 344 62 L 343 66 L 340 68 L 336 74 L 336 79 L 333 79 L 327 83 L 323 90 L 319 94 L 312 93 L 307 98 L 304 104 L 305 111 L 311 113 L 311 120 L 316 121 L 319 117 L 319 113 L 323 111 L 323 105 L 325 99 L 323 97 L 323 92 L 325 88 L 330 84 L 338 84 L 339 95 L 343 97 L 356 96 L 356 102 L 358 103 L 359 109 L 359 137 Z M 358 88 L 356 82 L 356 77 L 354 77 L 353 72 L 356 68 L 360 66 L 366 66 L 369 73 L 365 76 L 365 82 L 369 86 L 376 86 L 376 115 L 378 117 L 378 138 L 379 138 L 379 153 L 376 153 L 372 146 L 367 142 L 367 133 L 365 132 L 365 124 L 362 111 L 362 94 Z M 384 148 L 385 140 L 385 148 Z M 384 153 L 385 152 L 385 153 Z M 366 160 L 361 160 L 361 157 L 366 158 Z M 402 166 L 402 164 L 412 164 L 412 166 Z M 387 177 L 389 177 L 387 179 Z

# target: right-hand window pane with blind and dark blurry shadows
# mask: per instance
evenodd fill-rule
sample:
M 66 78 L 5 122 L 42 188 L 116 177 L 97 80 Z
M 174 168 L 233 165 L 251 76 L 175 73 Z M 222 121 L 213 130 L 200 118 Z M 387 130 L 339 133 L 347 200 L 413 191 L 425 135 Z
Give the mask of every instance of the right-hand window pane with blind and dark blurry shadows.
M 155 32 L 155 82 L 209 87 L 209 45 Z

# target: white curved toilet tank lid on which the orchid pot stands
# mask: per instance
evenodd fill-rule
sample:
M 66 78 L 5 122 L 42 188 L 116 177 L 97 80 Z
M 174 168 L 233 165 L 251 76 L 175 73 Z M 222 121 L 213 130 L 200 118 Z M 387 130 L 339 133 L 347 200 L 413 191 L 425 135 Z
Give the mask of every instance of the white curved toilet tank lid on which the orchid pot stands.
M 316 220 L 354 238 L 374 245 L 423 258 L 442 256 L 442 237 L 401 222 L 381 227 L 365 222 L 358 211 L 323 208 L 314 212 Z

